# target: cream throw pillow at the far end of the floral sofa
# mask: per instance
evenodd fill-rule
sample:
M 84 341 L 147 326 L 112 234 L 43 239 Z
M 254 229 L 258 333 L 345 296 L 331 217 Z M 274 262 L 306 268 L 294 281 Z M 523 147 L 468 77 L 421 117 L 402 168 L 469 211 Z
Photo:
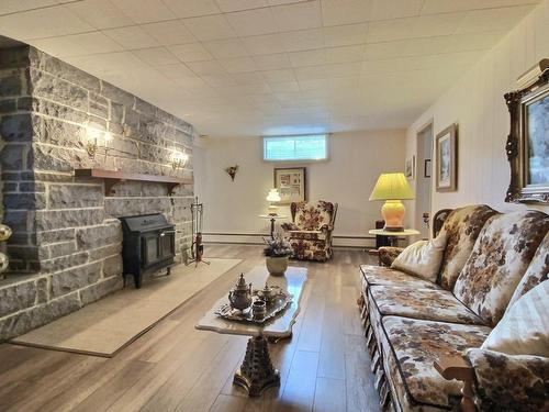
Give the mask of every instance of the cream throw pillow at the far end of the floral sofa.
M 394 259 L 391 269 L 436 282 L 446 248 L 446 234 L 442 233 L 432 241 L 413 243 Z

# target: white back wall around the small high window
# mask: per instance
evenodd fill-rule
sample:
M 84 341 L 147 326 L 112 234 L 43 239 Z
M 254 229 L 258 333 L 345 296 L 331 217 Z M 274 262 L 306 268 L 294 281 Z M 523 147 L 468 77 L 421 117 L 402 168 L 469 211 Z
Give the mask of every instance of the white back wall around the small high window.
M 265 200 L 273 185 L 272 170 L 280 165 L 261 160 L 260 137 L 201 140 L 193 152 L 195 193 L 204 202 L 204 233 L 266 234 L 268 221 L 258 218 L 266 212 Z M 380 219 L 380 202 L 369 202 L 378 176 L 403 171 L 405 131 L 369 131 L 336 133 L 330 136 L 330 158 L 324 163 L 294 164 L 307 168 L 310 200 L 339 203 L 336 236 L 339 245 L 371 245 L 363 240 Z M 234 182 L 224 168 L 238 165 Z M 284 165 L 285 166 L 285 165 Z M 284 214 L 288 211 L 281 210 Z M 371 236 L 368 236 L 371 237 Z M 206 236 L 211 241 L 233 241 L 227 236 Z M 240 236 L 239 241 L 260 241 Z

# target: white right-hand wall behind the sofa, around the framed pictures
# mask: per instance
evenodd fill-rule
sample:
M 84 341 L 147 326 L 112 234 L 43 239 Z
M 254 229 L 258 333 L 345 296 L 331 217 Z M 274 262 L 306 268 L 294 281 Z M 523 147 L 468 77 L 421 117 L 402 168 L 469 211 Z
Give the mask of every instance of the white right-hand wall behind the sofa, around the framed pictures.
M 415 153 L 416 133 L 425 123 L 434 121 L 435 135 L 452 122 L 459 123 L 458 191 L 433 190 L 433 212 L 470 203 L 488 203 L 500 211 L 526 208 L 504 202 L 509 182 L 505 154 L 509 116 L 503 94 L 514 90 L 516 78 L 544 57 L 549 57 L 549 0 L 538 4 L 410 126 L 408 157 Z M 433 177 L 435 185 L 435 164 Z

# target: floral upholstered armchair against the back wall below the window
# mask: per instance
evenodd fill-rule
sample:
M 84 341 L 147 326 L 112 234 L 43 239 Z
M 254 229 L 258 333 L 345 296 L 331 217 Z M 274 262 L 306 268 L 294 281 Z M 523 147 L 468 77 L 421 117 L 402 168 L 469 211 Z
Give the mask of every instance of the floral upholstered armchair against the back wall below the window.
M 294 202 L 290 211 L 292 223 L 283 223 L 282 229 L 290 238 L 293 257 L 318 261 L 332 258 L 332 232 L 337 203 L 323 200 L 316 203 Z

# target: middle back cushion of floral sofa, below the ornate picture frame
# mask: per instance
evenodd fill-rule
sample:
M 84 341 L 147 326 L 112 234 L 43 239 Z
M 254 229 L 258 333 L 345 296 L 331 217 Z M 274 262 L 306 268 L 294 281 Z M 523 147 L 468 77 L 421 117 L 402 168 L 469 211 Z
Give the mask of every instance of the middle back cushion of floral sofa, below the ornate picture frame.
M 456 298 L 495 325 L 548 229 L 549 216 L 538 211 L 491 218 L 456 281 Z

